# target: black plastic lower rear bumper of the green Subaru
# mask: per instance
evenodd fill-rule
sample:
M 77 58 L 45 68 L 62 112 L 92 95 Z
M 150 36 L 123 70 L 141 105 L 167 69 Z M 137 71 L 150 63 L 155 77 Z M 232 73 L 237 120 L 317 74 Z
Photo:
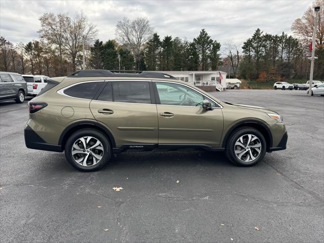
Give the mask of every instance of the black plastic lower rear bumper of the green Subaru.
M 62 152 L 62 146 L 48 144 L 41 137 L 39 137 L 28 125 L 25 127 L 25 144 L 27 148 L 47 150 L 54 152 Z

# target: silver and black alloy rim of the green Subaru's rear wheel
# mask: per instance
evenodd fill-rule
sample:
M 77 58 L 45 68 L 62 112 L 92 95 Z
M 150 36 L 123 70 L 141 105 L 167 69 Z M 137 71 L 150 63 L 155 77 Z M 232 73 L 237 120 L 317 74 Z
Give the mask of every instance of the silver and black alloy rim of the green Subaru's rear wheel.
M 104 149 L 97 138 L 83 136 L 73 143 L 71 153 L 74 161 L 79 165 L 94 166 L 101 160 Z

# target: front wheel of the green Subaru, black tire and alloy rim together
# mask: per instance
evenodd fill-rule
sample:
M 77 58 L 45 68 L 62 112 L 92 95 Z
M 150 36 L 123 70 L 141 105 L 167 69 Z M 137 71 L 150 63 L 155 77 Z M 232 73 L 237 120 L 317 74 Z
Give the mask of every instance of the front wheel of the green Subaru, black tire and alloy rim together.
M 250 127 L 239 128 L 230 136 L 225 154 L 236 166 L 253 166 L 266 153 L 266 141 L 262 133 Z

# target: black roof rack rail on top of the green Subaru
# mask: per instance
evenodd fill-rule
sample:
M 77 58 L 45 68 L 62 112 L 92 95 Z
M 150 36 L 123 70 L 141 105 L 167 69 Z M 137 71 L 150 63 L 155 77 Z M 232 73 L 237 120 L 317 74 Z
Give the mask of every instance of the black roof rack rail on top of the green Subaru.
M 67 77 L 150 77 L 176 79 L 174 76 L 162 72 L 86 69 L 75 71 Z

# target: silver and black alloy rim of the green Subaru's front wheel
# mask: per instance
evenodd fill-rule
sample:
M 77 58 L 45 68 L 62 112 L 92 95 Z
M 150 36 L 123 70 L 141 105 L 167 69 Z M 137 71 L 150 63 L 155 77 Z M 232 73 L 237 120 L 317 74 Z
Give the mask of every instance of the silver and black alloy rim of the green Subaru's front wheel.
M 236 157 L 244 162 L 251 162 L 260 155 L 262 144 L 260 139 L 253 134 L 240 136 L 234 145 Z

